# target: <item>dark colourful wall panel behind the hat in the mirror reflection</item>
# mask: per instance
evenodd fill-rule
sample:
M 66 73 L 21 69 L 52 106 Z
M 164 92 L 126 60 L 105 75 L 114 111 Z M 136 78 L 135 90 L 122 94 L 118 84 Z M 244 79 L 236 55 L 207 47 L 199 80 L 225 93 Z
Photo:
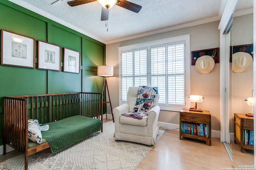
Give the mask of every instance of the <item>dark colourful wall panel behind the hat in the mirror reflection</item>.
M 232 62 L 232 55 L 237 52 L 245 52 L 252 56 L 253 59 L 253 44 L 234 45 L 230 46 L 229 62 Z

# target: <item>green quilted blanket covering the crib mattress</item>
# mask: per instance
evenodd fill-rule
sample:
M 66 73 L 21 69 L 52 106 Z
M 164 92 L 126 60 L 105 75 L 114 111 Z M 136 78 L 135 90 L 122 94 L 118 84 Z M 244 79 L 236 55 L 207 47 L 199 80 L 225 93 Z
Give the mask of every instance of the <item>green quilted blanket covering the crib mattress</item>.
M 53 153 L 88 137 L 101 130 L 102 121 L 76 115 L 59 121 L 45 123 L 49 125 L 48 131 L 42 131 L 42 138 L 49 142 Z

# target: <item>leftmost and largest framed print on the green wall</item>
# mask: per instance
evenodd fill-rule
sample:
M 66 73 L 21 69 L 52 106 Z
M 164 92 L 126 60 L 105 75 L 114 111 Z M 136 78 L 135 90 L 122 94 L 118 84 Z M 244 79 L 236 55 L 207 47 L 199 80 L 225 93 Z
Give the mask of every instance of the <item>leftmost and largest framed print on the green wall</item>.
M 1 30 L 1 64 L 35 68 L 35 39 Z

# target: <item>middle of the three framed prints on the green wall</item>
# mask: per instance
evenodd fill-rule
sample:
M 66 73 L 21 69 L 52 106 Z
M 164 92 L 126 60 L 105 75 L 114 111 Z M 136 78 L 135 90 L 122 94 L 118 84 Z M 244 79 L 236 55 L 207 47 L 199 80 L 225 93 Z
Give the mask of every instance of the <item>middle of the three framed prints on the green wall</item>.
M 38 40 L 38 68 L 60 71 L 61 47 Z

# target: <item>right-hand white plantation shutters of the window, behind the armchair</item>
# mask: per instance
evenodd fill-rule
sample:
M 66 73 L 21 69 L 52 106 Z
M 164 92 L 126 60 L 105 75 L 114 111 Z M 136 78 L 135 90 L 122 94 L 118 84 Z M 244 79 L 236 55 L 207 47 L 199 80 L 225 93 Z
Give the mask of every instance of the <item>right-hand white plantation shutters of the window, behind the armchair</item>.
M 158 86 L 162 106 L 185 104 L 184 41 L 150 47 L 151 85 Z

